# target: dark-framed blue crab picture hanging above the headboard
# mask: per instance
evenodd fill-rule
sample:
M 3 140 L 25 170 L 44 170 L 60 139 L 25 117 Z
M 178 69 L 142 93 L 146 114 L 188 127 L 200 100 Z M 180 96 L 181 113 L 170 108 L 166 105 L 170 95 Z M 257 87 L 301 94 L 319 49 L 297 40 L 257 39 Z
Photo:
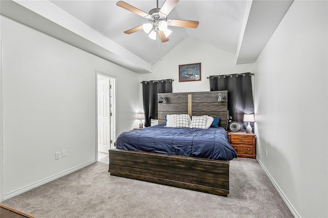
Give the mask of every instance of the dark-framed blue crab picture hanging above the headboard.
M 200 63 L 188 63 L 179 65 L 179 82 L 200 80 Z

